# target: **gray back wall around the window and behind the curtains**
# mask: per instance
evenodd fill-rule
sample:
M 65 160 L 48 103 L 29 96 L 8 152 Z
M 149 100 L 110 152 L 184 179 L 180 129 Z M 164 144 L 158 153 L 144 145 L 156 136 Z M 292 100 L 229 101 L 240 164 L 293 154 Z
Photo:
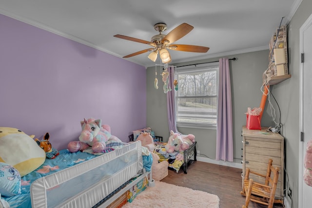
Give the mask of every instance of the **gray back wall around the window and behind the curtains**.
M 246 125 L 247 108 L 259 107 L 262 92 L 262 74 L 267 69 L 269 50 L 252 53 L 238 54 L 229 58 L 237 58 L 230 61 L 233 103 L 233 129 L 234 129 L 234 162 L 240 163 L 242 155 L 241 131 Z M 215 61 L 219 58 L 205 59 L 201 61 L 173 64 L 176 66 Z M 177 68 L 178 69 L 178 68 Z M 167 121 L 166 94 L 163 93 L 159 67 L 157 70 L 158 90 L 154 88 L 155 67 L 147 69 L 147 126 L 151 127 L 156 135 L 164 137 L 167 141 L 170 135 Z M 266 108 L 267 109 L 267 108 Z M 268 112 L 263 113 L 262 126 L 271 126 L 273 121 Z M 200 154 L 215 159 L 216 131 L 206 129 L 178 128 L 183 134 L 192 133 L 197 141 L 197 150 Z

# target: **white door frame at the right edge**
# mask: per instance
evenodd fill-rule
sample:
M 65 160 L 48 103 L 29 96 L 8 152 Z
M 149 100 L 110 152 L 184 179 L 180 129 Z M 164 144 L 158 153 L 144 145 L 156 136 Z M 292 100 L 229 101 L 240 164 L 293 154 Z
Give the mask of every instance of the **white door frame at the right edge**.
M 299 77 L 300 77 L 300 104 L 299 104 L 299 138 L 301 137 L 301 132 L 303 132 L 303 64 L 301 63 L 301 53 L 304 53 L 303 48 L 304 48 L 304 43 L 303 43 L 303 35 L 304 31 L 307 30 L 307 28 L 312 27 L 312 15 L 303 23 L 303 25 L 300 27 L 300 32 L 299 32 L 299 61 L 300 61 L 300 70 L 299 70 Z M 304 142 L 301 142 L 299 140 L 299 175 L 298 175 L 298 207 L 302 207 L 303 203 L 303 168 L 304 168 Z

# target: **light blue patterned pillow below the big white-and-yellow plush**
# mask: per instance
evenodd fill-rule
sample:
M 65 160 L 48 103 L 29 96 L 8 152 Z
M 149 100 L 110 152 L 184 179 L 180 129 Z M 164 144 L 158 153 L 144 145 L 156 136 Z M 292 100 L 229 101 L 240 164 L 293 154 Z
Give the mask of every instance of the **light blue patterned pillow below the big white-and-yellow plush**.
M 2 196 L 20 194 L 21 179 L 17 169 L 0 162 L 0 193 Z

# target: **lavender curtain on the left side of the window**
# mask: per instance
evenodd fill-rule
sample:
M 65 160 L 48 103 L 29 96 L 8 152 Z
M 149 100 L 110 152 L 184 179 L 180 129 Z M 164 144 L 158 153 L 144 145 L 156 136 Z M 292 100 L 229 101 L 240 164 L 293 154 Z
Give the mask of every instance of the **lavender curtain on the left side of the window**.
M 176 102 L 175 102 L 175 67 L 168 67 L 169 72 L 169 83 L 168 87 L 172 90 L 167 92 L 167 114 L 168 114 L 168 125 L 169 131 L 179 133 L 176 129 Z

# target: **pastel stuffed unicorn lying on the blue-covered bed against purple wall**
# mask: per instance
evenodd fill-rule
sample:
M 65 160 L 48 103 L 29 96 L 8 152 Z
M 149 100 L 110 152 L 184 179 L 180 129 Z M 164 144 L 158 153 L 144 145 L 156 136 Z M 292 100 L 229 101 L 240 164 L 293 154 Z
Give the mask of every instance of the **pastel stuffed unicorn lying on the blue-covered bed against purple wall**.
M 117 136 L 111 134 L 110 126 L 101 125 L 101 119 L 94 118 L 84 119 L 80 121 L 82 132 L 79 141 L 72 141 L 67 148 L 70 152 L 83 151 L 88 147 L 92 147 L 95 153 L 103 152 L 108 140 L 122 142 Z

